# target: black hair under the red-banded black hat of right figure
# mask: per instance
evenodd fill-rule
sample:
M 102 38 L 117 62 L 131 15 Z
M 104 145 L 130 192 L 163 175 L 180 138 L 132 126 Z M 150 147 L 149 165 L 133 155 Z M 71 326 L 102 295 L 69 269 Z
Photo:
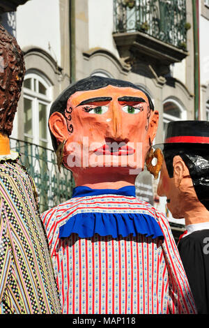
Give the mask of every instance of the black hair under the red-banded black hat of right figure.
M 165 144 L 164 160 L 169 177 L 173 177 L 173 158 L 180 156 L 189 170 L 199 201 L 209 210 L 209 146 L 208 144 Z

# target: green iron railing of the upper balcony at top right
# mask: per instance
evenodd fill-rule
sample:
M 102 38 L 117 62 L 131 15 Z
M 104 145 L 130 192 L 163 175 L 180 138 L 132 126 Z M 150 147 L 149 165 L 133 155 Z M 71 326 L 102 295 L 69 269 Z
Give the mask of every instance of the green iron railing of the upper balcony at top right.
M 141 31 L 187 50 L 186 0 L 114 0 L 114 32 Z

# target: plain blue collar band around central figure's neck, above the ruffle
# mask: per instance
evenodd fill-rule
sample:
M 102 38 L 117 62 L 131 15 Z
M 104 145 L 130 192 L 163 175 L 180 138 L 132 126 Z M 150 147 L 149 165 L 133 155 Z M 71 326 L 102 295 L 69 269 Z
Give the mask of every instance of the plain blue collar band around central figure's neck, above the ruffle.
M 78 186 L 73 189 L 72 198 L 96 196 L 96 195 L 108 195 L 108 194 L 136 197 L 136 191 L 134 186 L 125 186 L 120 189 L 92 189 L 89 187 Z

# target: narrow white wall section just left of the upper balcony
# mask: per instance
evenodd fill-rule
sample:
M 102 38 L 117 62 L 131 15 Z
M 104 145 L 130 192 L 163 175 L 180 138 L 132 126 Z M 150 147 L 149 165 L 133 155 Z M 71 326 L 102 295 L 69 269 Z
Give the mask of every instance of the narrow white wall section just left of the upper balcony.
M 88 45 L 89 48 L 100 47 L 112 52 L 116 57 L 118 51 L 114 45 L 114 1 L 88 0 Z

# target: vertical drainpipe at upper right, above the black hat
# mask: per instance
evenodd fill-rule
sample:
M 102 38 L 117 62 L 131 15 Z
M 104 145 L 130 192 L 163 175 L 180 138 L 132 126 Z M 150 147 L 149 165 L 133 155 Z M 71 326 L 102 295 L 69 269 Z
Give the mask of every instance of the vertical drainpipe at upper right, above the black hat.
M 194 34 L 194 119 L 200 119 L 199 0 L 192 0 Z

